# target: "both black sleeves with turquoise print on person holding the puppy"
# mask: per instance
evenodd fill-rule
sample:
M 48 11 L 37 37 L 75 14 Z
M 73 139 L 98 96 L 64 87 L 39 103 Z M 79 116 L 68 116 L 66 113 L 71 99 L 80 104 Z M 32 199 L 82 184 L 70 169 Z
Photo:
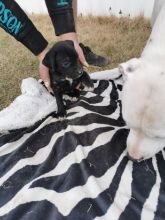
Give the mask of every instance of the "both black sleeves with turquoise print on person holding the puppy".
M 56 35 L 75 32 L 72 0 L 45 0 Z M 0 26 L 24 44 L 33 54 L 40 54 L 48 42 L 14 0 L 0 0 Z

